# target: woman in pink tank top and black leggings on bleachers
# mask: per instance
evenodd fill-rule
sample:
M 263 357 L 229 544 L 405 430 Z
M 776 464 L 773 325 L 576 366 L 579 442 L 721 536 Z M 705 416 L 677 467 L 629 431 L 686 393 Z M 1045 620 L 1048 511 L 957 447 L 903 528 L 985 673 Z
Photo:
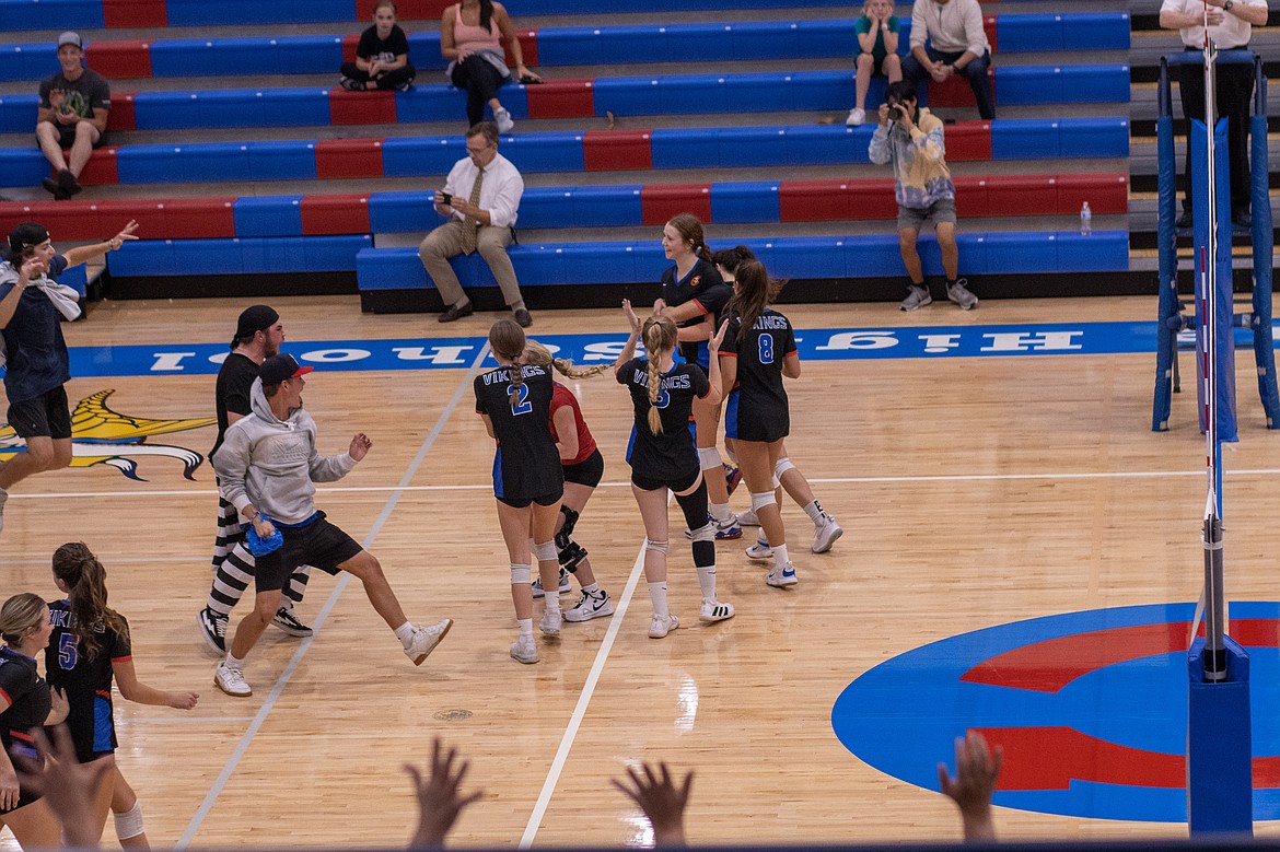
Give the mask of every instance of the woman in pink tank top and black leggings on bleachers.
M 467 127 L 484 122 L 484 107 L 493 110 L 499 133 L 516 125 L 511 113 L 498 100 L 498 90 L 511 79 L 502 40 L 516 60 L 521 83 L 540 83 L 541 78 L 525 68 L 520 37 L 511 26 L 507 8 L 493 0 L 461 0 L 440 17 L 440 55 L 449 60 L 445 73 L 457 88 L 467 93 Z

